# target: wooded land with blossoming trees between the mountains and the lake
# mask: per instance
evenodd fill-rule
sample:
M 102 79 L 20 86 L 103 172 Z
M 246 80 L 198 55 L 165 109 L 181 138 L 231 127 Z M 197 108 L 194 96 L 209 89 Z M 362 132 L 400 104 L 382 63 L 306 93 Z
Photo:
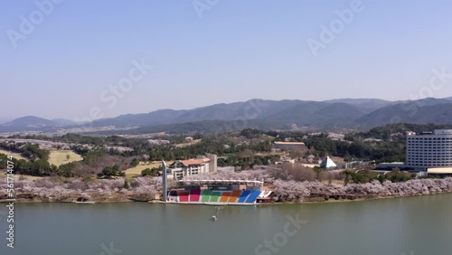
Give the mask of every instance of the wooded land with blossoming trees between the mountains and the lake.
M 0 170 L 6 169 L 7 153 L 14 155 L 14 191 L 18 201 L 96 202 L 148 201 L 161 194 L 161 179 L 155 177 L 161 165 L 127 175 L 127 170 L 143 162 L 162 158 L 184 160 L 205 153 L 219 156 L 219 166 L 233 166 L 233 173 L 217 173 L 210 178 L 239 177 L 265 180 L 274 190 L 274 202 L 323 202 L 451 191 L 450 178 L 418 176 L 394 169 L 387 175 L 371 167 L 324 171 L 304 166 L 308 156 L 320 159 L 335 156 L 345 163 L 356 160 L 404 161 L 405 131 L 420 132 L 438 125 L 393 124 L 365 132 L 338 136 L 322 132 L 264 131 L 246 128 L 221 134 L 155 134 L 146 136 L 89 137 L 66 134 L 61 137 L 14 135 L 0 139 Z M 306 148 L 275 151 L 276 141 L 303 142 Z M 58 161 L 52 160 L 52 152 Z M 5 154 L 6 153 L 6 154 Z M 296 158 L 295 164 L 276 165 L 282 156 Z M 52 163 L 53 162 L 53 163 Z M 58 164 L 54 164 L 58 162 Z M 256 166 L 267 170 L 253 170 Z M 141 170 L 141 168 L 140 168 Z M 360 170 L 360 171 L 357 171 Z M 197 175 L 188 176 L 196 178 Z M 202 177 L 201 175 L 197 177 Z M 0 175 L 0 199 L 5 200 L 6 178 Z

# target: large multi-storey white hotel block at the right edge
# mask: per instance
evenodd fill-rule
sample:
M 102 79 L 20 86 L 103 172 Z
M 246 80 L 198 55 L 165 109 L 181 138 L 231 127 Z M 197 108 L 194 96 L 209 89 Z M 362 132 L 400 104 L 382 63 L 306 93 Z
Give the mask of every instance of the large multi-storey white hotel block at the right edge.
M 407 132 L 405 164 L 421 171 L 427 171 L 428 168 L 452 169 L 452 129 L 436 129 L 419 134 Z

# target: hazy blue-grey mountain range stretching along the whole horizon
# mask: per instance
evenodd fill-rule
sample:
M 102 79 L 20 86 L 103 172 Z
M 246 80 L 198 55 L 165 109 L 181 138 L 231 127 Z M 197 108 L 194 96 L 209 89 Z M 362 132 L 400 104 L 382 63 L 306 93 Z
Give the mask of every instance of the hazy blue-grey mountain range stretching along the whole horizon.
M 212 132 L 246 127 L 261 129 L 363 130 L 395 122 L 452 124 L 452 97 L 388 101 L 333 99 L 326 101 L 251 99 L 196 109 L 158 109 L 94 120 L 89 127 L 129 128 L 127 132 Z M 0 132 L 52 131 L 77 127 L 69 119 L 34 116 L 0 124 Z

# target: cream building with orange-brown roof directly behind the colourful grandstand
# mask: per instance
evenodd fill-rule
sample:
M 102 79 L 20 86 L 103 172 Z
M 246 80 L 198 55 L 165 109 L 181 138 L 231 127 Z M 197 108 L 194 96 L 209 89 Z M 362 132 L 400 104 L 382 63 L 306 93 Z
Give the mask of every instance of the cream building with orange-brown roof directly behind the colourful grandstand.
M 173 177 L 174 181 L 178 181 L 188 175 L 198 175 L 203 173 L 217 172 L 217 156 L 214 154 L 206 154 L 205 156 L 197 156 L 196 158 L 174 161 L 173 164 L 166 168 L 168 177 Z

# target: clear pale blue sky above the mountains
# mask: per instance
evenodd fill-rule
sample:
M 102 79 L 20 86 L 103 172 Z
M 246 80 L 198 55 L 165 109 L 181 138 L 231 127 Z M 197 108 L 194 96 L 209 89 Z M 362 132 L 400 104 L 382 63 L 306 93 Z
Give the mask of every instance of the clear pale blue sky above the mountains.
M 54 1 L 0 1 L 0 118 L 452 96 L 447 0 Z

